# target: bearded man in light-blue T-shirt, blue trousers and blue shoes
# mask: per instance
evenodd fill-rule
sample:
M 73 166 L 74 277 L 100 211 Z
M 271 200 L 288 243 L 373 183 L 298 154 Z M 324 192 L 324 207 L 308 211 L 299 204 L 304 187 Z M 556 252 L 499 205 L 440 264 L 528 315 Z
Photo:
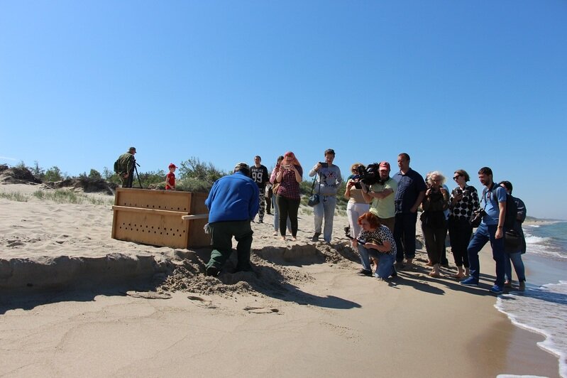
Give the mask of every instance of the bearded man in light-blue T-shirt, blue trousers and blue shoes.
M 468 261 L 470 276 L 461 281 L 466 286 L 478 286 L 480 279 L 480 262 L 478 252 L 490 241 L 492 246 L 492 259 L 496 262 L 496 280 L 490 288 L 492 293 L 502 293 L 504 287 L 505 253 L 504 253 L 504 220 L 506 216 L 506 190 L 494 183 L 492 170 L 488 167 L 480 168 L 478 180 L 485 186 L 481 202 L 484 202 L 485 215 L 476 229 L 473 239 L 468 244 Z

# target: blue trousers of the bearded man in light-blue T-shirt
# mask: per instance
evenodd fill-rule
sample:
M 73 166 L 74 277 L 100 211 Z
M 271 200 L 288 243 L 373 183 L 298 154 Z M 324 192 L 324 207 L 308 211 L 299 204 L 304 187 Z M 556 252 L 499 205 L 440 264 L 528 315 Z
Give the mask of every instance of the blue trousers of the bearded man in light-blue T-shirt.
M 468 263 L 470 264 L 470 276 L 480 279 L 480 261 L 478 261 L 478 252 L 484 245 L 490 241 L 492 247 L 492 259 L 496 262 L 496 280 L 494 283 L 500 287 L 504 286 L 504 271 L 505 271 L 505 252 L 504 252 L 504 238 L 496 239 L 496 225 L 485 225 L 480 223 L 476 229 L 473 239 L 468 243 Z

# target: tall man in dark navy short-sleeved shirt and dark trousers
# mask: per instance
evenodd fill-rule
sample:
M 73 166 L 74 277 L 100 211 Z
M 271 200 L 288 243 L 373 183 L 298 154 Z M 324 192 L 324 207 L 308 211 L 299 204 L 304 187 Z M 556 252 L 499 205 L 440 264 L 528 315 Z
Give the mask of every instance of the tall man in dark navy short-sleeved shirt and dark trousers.
M 397 156 L 397 166 L 400 172 L 392 178 L 397 182 L 394 197 L 395 225 L 394 239 L 396 242 L 397 268 L 404 267 L 404 256 L 407 264 L 411 265 L 415 257 L 415 223 L 417 222 L 417 207 L 425 196 L 425 181 L 419 173 L 409 168 L 409 155 L 400 153 Z

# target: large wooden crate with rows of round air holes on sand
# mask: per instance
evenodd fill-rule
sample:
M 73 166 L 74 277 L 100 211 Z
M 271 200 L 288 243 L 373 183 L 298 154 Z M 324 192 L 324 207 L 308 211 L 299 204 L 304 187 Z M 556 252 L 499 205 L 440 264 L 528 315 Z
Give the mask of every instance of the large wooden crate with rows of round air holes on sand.
M 117 188 L 114 197 L 112 237 L 172 248 L 205 247 L 207 217 L 183 220 L 184 215 L 206 215 L 207 194 Z

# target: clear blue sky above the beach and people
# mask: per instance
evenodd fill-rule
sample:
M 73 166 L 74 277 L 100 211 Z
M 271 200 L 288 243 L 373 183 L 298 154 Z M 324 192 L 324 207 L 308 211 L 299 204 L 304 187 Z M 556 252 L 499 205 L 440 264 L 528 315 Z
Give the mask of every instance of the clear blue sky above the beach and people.
M 70 175 L 326 148 L 490 166 L 567 219 L 567 1 L 0 2 L 0 163 Z M 452 180 L 447 185 L 453 188 Z

